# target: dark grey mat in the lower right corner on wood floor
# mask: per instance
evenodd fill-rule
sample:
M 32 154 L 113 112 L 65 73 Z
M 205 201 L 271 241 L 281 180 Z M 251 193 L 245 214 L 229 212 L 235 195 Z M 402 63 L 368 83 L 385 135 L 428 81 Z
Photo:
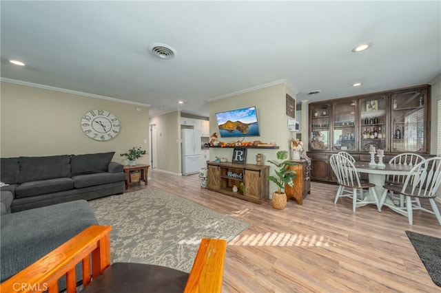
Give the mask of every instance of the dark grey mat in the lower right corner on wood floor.
M 441 239 L 406 231 L 433 283 L 441 287 Z

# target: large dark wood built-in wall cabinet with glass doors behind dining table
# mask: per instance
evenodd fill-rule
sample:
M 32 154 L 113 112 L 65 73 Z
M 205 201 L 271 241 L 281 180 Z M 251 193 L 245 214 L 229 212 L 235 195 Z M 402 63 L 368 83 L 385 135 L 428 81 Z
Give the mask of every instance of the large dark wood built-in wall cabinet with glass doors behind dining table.
M 338 98 L 309 104 L 311 180 L 336 182 L 329 157 L 339 151 L 369 162 L 369 146 L 430 158 L 430 85 Z

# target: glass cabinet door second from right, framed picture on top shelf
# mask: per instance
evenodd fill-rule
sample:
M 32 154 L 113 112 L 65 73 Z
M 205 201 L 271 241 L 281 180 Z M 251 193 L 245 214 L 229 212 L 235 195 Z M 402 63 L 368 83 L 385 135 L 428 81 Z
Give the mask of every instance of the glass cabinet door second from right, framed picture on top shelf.
M 370 146 L 388 151 L 387 95 L 360 100 L 360 151 Z

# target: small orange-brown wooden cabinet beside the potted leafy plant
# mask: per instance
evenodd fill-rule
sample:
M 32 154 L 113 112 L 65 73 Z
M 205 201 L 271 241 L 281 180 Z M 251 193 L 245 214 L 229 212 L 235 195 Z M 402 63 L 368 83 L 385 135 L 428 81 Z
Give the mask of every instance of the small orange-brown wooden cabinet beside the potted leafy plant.
M 285 184 L 285 193 L 287 199 L 294 197 L 298 204 L 303 204 L 303 199 L 311 193 L 309 164 L 307 160 L 291 160 L 291 162 L 296 162 L 297 165 L 287 166 L 287 169 L 296 171 L 297 177 L 294 179 L 293 187 Z

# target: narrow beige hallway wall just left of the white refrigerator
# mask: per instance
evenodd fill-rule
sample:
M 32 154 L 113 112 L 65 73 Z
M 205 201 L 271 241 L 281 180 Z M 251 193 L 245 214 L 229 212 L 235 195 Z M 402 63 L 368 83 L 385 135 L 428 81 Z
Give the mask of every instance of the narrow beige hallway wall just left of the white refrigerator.
M 156 116 L 150 124 L 156 125 L 158 169 L 181 175 L 181 113 Z

